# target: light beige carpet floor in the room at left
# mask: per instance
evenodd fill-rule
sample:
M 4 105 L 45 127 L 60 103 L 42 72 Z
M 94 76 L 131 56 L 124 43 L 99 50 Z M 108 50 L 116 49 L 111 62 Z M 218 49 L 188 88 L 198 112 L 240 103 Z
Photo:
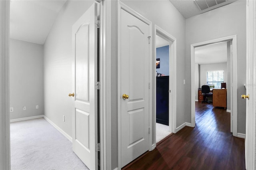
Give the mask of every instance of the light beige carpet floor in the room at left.
M 10 140 L 12 170 L 88 170 L 44 118 L 11 123 Z

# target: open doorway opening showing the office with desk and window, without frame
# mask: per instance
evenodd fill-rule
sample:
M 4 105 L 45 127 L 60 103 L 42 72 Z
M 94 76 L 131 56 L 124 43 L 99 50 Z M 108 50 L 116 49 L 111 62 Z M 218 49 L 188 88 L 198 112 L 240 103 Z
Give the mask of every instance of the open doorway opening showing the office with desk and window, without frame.
M 195 47 L 195 105 L 197 125 L 216 121 L 216 112 L 230 113 L 232 41 Z M 209 87 L 210 91 L 205 91 Z M 206 95 L 207 97 L 206 97 Z M 214 115 L 214 116 L 213 116 Z M 230 120 L 230 118 L 227 118 Z M 230 127 L 230 121 L 222 122 Z

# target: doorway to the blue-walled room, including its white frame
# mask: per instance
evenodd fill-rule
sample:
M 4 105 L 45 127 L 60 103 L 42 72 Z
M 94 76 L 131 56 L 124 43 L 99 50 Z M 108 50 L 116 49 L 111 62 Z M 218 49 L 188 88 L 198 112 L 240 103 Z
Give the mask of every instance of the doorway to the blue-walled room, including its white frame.
M 156 25 L 155 25 L 154 36 L 155 36 L 154 37 L 155 38 L 154 63 L 156 64 L 154 64 L 153 66 L 154 67 L 153 80 L 154 80 L 155 113 L 153 115 L 153 125 L 152 125 L 152 128 L 154 128 L 153 130 L 154 144 L 152 146 L 152 149 L 154 149 L 154 147 L 156 146 L 156 143 L 159 142 L 161 138 L 164 138 L 165 135 L 168 135 L 170 133 L 176 133 L 176 38 L 174 38 L 173 36 L 168 34 L 168 32 L 166 32 L 165 30 L 163 30 L 162 28 Z M 168 60 L 164 58 L 161 60 L 160 55 L 162 55 L 163 53 L 167 53 L 167 51 L 168 51 L 168 54 L 166 58 L 168 58 Z M 162 66 L 164 67 L 161 67 L 161 62 L 162 62 Z M 159 63 L 160 63 L 160 67 L 159 67 Z M 160 78 L 158 78 L 157 75 Z M 161 75 L 167 75 L 167 76 L 161 76 Z M 164 88 L 166 88 L 166 90 L 164 90 Z M 162 91 L 162 90 L 164 90 L 164 93 L 159 94 L 159 91 Z M 165 96 L 164 102 L 158 101 L 158 100 L 161 100 L 160 98 L 163 99 L 164 96 Z M 168 102 L 166 103 L 166 101 Z M 161 116 L 159 117 L 157 115 L 157 114 L 161 114 L 162 108 L 159 110 L 159 107 L 161 107 L 161 105 L 163 105 L 164 103 L 166 103 L 164 112 L 168 112 L 166 116 L 168 119 L 167 121 L 162 120 L 162 117 Z M 157 123 L 165 124 L 165 126 Z M 161 130 L 161 127 L 162 127 L 162 130 Z M 156 136 L 158 137 L 156 138 Z

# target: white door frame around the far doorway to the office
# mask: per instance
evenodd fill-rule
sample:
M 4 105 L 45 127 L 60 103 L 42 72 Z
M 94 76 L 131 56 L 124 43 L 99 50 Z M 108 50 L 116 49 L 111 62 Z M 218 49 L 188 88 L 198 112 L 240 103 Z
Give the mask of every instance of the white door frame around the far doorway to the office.
M 230 56 L 230 124 L 232 124 L 233 136 L 237 137 L 237 38 L 236 35 L 228 36 L 224 38 L 218 38 L 215 40 L 209 40 L 206 42 L 194 43 L 190 45 L 191 52 L 191 127 L 195 127 L 195 47 L 202 45 L 208 45 L 212 43 L 232 41 L 232 55 Z M 233 121 L 232 121 L 233 119 Z M 233 122 L 233 123 L 232 123 Z

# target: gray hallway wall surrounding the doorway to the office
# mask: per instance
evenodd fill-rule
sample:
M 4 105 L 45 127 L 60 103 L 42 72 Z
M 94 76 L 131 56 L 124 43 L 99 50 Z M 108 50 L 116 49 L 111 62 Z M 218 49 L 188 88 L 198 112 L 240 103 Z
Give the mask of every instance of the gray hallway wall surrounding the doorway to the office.
M 186 19 L 186 122 L 191 122 L 190 44 L 237 35 L 238 132 L 245 133 L 246 101 L 246 2 L 236 1 Z

